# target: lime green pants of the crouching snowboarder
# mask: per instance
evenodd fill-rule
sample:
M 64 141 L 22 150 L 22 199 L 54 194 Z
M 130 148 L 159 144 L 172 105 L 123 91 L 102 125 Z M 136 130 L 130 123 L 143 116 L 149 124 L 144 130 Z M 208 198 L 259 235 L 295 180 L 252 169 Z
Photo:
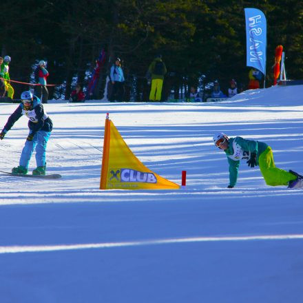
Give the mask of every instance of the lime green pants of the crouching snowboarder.
M 295 175 L 275 167 L 273 162 L 273 151 L 271 147 L 267 147 L 259 156 L 259 166 L 262 176 L 267 185 L 288 185 L 290 180 L 297 178 Z

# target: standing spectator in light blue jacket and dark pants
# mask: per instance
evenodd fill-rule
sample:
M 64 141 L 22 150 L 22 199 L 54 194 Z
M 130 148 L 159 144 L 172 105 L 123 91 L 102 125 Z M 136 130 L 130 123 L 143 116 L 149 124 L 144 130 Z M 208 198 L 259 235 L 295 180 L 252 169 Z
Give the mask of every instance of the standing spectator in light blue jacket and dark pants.
M 112 94 L 109 101 L 123 101 L 124 96 L 124 74 L 121 67 L 121 59 L 117 58 L 110 69 L 110 80 L 112 81 Z

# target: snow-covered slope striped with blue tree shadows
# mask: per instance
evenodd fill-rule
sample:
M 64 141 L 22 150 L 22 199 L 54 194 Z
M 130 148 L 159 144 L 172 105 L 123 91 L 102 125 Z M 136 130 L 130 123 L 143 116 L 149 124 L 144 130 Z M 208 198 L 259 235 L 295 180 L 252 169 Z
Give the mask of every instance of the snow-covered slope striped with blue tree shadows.
M 250 90 L 224 103 L 59 103 L 48 171 L 0 175 L 0 302 L 302 302 L 302 190 L 268 187 L 258 167 L 228 165 L 212 136 L 264 140 L 303 173 L 302 86 Z M 4 125 L 17 105 L 0 104 Z M 174 191 L 98 189 L 105 114 Z M 21 118 L 0 142 L 18 165 Z M 34 157 L 31 169 L 35 168 Z

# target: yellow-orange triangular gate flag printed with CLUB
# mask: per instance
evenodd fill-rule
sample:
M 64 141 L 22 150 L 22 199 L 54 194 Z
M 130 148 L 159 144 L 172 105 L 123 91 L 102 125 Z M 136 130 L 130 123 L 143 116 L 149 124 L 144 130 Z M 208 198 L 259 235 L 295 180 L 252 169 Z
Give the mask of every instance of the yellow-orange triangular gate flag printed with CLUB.
M 179 189 L 136 158 L 107 114 L 100 189 Z

